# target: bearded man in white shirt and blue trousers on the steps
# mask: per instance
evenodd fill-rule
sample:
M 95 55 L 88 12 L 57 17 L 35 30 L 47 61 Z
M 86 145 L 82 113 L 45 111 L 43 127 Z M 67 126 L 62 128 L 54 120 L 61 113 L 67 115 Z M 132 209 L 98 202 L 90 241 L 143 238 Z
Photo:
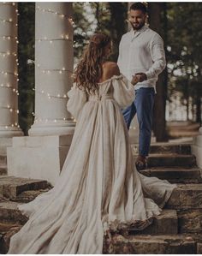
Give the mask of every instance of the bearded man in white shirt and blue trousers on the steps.
M 137 170 L 144 170 L 151 144 L 151 119 L 157 77 L 165 68 L 166 62 L 163 39 L 146 25 L 145 4 L 132 4 L 129 15 L 132 29 L 122 36 L 118 66 L 128 80 L 136 76 L 140 82 L 135 86 L 134 103 L 122 110 L 122 114 L 129 129 L 137 113 L 140 136 L 139 156 L 135 164 Z

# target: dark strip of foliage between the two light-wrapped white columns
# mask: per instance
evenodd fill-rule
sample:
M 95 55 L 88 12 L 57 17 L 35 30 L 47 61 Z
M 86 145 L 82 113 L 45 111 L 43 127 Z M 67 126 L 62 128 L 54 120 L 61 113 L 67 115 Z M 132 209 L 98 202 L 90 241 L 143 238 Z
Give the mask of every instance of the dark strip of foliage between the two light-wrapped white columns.
M 34 112 L 35 3 L 18 3 L 19 123 L 27 135 Z

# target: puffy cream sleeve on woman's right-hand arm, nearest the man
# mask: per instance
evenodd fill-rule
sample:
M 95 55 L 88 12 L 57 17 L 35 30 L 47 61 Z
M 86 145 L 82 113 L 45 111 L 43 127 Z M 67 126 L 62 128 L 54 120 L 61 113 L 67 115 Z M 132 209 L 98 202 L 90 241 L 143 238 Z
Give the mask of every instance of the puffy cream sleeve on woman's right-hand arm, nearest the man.
M 114 89 L 113 97 L 120 108 L 124 109 L 133 103 L 135 97 L 134 86 L 123 74 L 114 75 L 112 85 Z

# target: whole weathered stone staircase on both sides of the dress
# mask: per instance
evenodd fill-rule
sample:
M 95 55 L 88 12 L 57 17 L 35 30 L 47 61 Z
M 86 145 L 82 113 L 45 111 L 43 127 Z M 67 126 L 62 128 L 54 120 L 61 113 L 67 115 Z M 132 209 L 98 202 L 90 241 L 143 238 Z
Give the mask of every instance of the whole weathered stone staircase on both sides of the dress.
M 134 157 L 137 147 L 133 146 Z M 0 163 L 6 165 L 5 158 Z M 202 253 L 202 176 L 191 147 L 155 144 L 151 146 L 148 167 L 142 173 L 178 184 L 162 213 L 146 229 L 128 229 L 104 241 L 104 253 L 191 254 Z M 27 217 L 16 209 L 40 193 L 48 191 L 46 181 L 0 176 L 0 253 L 9 249 L 9 240 Z

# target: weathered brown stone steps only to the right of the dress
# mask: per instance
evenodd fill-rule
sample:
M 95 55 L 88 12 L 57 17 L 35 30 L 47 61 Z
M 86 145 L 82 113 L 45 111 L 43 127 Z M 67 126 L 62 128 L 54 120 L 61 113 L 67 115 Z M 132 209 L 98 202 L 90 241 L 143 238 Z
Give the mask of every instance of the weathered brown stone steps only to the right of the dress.
M 137 146 L 133 146 L 134 158 Z M 160 216 L 144 230 L 128 229 L 104 242 L 104 253 L 200 254 L 202 253 L 202 171 L 191 146 L 153 145 L 145 176 L 177 183 Z

